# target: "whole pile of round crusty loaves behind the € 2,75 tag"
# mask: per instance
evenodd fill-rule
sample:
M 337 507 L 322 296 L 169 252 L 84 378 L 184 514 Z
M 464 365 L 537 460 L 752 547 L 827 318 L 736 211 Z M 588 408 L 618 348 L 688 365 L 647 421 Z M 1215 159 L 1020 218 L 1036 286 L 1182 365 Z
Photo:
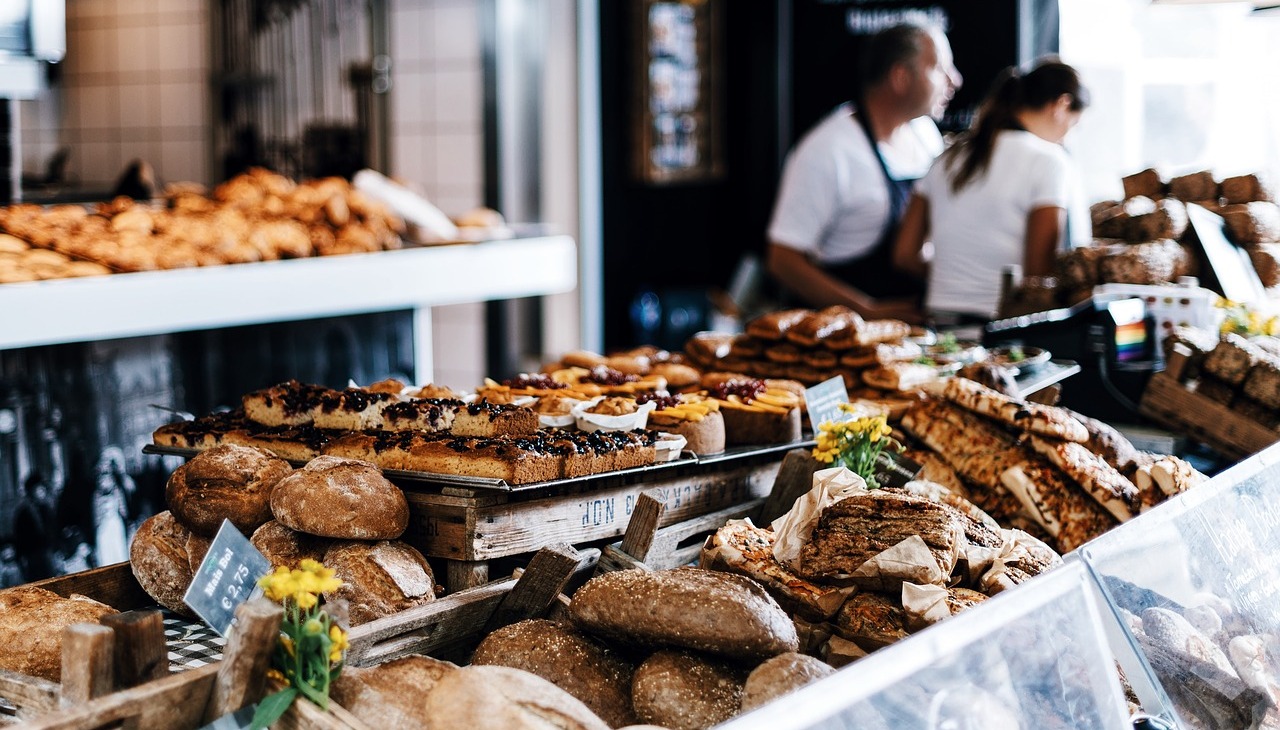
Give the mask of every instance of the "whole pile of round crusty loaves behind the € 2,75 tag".
M 426 558 L 399 542 L 408 502 L 364 461 L 321 456 L 294 470 L 255 447 L 221 444 L 179 466 L 165 488 L 169 510 L 142 524 L 129 547 L 133 575 L 170 611 L 191 615 L 183 596 L 223 520 L 271 561 L 297 567 L 324 562 L 343 581 L 329 598 L 346 599 L 362 624 L 433 601 Z

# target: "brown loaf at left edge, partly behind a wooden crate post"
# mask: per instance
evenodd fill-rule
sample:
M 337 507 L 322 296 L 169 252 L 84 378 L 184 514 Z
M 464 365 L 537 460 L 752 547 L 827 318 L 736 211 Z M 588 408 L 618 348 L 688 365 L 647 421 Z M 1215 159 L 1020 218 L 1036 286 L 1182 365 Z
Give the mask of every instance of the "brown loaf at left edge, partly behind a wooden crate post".
M 115 608 L 84 596 L 63 598 L 32 585 L 0 590 L 0 669 L 58 681 L 63 629 L 108 613 Z

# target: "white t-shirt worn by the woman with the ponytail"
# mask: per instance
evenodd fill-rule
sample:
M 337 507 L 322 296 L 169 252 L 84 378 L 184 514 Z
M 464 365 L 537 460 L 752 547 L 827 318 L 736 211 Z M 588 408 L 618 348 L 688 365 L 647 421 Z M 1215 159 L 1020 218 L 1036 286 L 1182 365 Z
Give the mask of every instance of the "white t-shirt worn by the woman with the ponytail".
M 915 191 L 929 201 L 933 261 L 925 309 L 995 316 L 1006 265 L 1024 261 L 1027 216 L 1038 207 L 1070 209 L 1066 151 L 1020 129 L 996 137 L 991 165 L 959 193 L 940 158 Z

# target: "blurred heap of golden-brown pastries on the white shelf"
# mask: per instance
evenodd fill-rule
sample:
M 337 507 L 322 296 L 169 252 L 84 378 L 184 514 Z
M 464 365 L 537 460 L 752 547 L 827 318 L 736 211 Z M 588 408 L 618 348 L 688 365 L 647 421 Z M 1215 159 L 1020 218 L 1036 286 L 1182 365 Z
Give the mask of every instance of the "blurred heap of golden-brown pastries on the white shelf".
M 294 183 L 262 169 L 205 196 L 169 191 L 168 206 L 122 197 L 78 205 L 0 207 L 0 229 L 31 248 L 0 245 L 0 283 L 297 259 L 397 248 L 403 223 L 342 178 Z M 19 254 L 19 256 L 14 256 Z M 61 259 L 55 259 L 58 254 Z M 23 268 L 8 265 L 26 263 Z M 73 265 L 74 263 L 74 265 Z

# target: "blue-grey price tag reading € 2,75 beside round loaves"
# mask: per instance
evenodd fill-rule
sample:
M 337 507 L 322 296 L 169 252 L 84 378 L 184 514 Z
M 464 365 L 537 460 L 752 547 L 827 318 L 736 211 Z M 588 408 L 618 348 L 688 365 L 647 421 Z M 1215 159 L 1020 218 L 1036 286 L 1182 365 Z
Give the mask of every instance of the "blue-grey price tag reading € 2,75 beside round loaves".
M 236 620 L 236 608 L 262 594 L 257 579 L 270 571 L 271 562 L 230 520 L 223 520 L 182 602 L 225 637 Z

